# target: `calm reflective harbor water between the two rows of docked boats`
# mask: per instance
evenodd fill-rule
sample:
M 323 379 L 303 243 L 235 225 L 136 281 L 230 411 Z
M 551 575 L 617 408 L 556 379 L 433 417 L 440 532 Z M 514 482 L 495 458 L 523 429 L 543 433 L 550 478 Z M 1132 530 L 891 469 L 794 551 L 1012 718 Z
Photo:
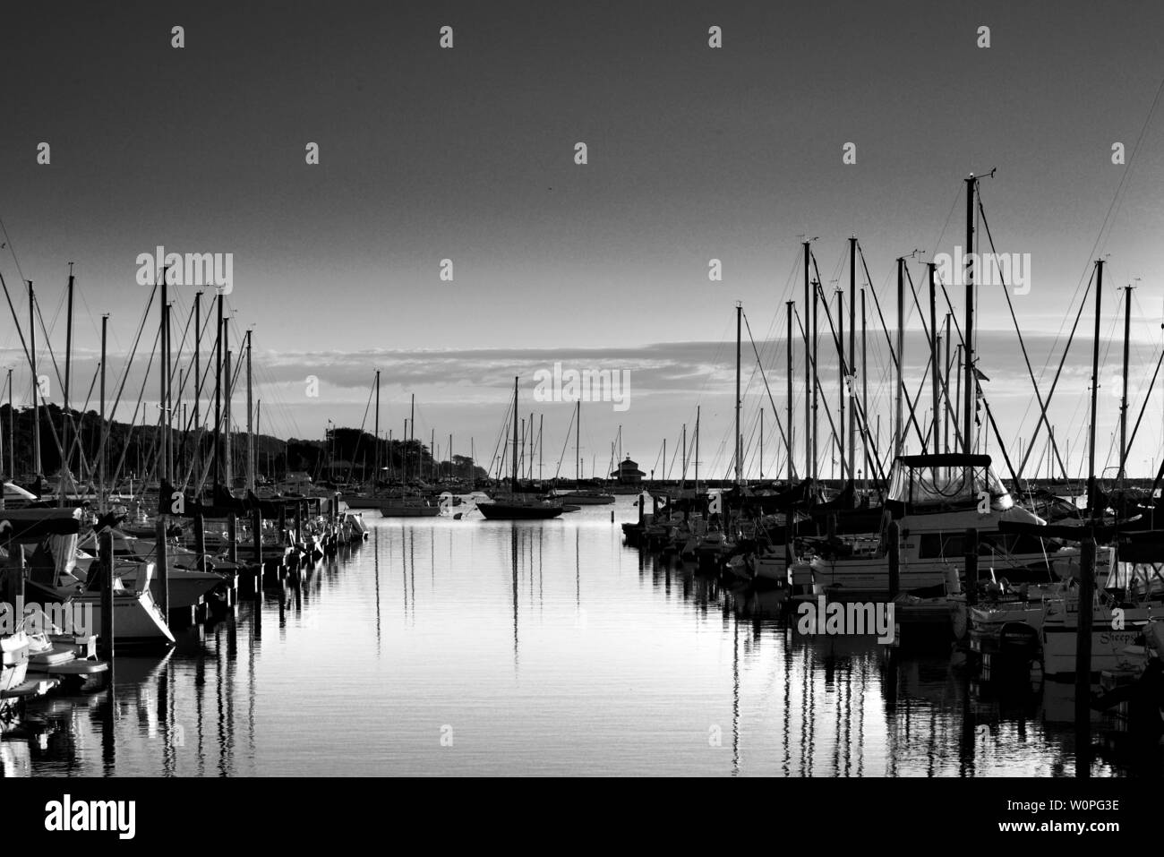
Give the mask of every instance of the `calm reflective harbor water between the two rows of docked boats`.
M 119 658 L 112 704 L 31 703 L 0 771 L 1073 773 L 1070 687 L 992 700 L 941 652 L 799 636 L 624 547 L 610 509 L 370 517 L 369 540 L 298 592 L 244 600 L 165 657 Z

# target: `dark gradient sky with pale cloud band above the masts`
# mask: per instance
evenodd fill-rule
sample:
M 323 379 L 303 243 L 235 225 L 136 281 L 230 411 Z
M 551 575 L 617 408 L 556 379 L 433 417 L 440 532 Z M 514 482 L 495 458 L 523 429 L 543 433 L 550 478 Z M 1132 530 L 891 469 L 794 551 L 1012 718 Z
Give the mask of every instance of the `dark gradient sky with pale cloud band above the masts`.
M 1028 260 L 1029 291 L 1012 298 L 1044 397 L 1093 262 L 1106 260 L 1100 465 L 1114 463 L 1128 284 L 1133 416 L 1150 389 L 1164 309 L 1158 2 L 59 2 L 5 15 L 0 275 L 26 337 L 23 281 L 34 281 L 43 368 L 45 339 L 63 364 L 73 263 L 74 401 L 94 377 L 102 313 L 108 368 L 126 371 L 151 288 L 137 282 L 140 254 L 228 253 L 230 338 L 236 347 L 253 330 L 264 432 L 318 438 L 328 420 L 371 430 L 379 369 L 385 433 L 399 435 L 416 395 L 418 437 L 435 433 L 446 456 L 452 433 L 454 452 L 488 465 L 518 375 L 519 411 L 542 425 L 542 473 L 572 475 L 573 404 L 535 398 L 534 374 L 561 362 L 630 373 L 626 410 L 582 408 L 584 472 L 608 467 L 619 426 L 623 454 L 661 472 L 663 438 L 670 459 L 698 409 L 702 473 L 722 475 L 741 302 L 757 341 L 753 352 L 745 331 L 747 472 L 759 475 L 762 408 L 767 475 L 783 459 L 773 410 L 787 404 L 781 337 L 785 302 L 802 300 L 803 238 L 816 238 L 831 293 L 847 288 L 858 236 L 870 272 L 858 269 L 858 288 L 876 292 L 892 328 L 894 260 L 920 252 L 909 268 L 924 300 L 924 263 L 965 243 L 971 172 L 984 176 L 998 252 Z M 196 290 L 170 289 L 183 330 Z M 1003 288 L 981 286 L 977 302 L 978 366 L 1016 456 L 1038 416 L 1032 384 Z M 1085 463 L 1092 312 L 1049 409 L 1072 475 Z M 916 310 L 906 324 L 916 389 Z M 872 319 L 868 341 L 871 428 L 880 417 L 887 437 L 890 361 Z M 822 392 L 836 409 L 824 342 Z M 0 357 L 27 402 L 20 348 L 9 316 Z M 147 359 L 129 366 L 119 408 L 132 411 L 144 389 L 156 416 Z M 1159 462 L 1158 390 L 1144 415 L 1133 473 Z M 794 432 L 794 460 L 801 441 Z

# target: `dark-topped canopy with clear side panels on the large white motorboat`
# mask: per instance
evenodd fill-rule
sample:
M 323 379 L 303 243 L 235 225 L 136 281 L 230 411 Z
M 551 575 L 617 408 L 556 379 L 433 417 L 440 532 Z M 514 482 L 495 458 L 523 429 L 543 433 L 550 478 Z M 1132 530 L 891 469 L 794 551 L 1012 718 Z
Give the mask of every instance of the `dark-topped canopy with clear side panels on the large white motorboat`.
M 989 455 L 901 455 L 889 479 L 889 500 L 911 507 L 977 503 L 984 491 L 995 509 L 1013 505 Z

